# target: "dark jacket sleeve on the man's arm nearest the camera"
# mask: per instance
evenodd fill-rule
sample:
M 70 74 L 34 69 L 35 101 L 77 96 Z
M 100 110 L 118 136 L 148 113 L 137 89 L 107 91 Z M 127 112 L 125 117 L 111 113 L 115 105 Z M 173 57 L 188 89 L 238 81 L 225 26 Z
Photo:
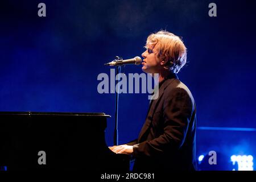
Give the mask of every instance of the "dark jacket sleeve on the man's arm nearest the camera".
M 135 157 L 158 156 L 170 150 L 179 150 L 183 145 L 193 110 L 192 99 L 183 88 L 165 91 L 168 93 L 163 97 L 163 134 L 158 138 L 135 144 Z

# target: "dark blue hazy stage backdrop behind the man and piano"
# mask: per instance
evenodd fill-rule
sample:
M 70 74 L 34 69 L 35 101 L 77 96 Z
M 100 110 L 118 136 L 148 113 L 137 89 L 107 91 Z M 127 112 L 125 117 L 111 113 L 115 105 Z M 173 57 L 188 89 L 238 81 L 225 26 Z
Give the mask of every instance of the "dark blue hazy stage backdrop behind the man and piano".
M 46 17 L 38 16 L 40 2 Z M 208 15 L 211 2 L 217 17 Z M 195 97 L 197 125 L 256 127 L 255 1 L 5 1 L 0 8 L 0 111 L 104 112 L 112 115 L 112 145 L 115 97 L 97 92 L 97 76 L 110 75 L 104 63 L 116 55 L 141 56 L 147 36 L 166 29 L 188 48 L 179 78 Z M 125 72 L 142 73 L 141 66 Z M 119 143 L 137 137 L 147 107 L 147 94 L 121 94 Z M 198 130 L 197 155 L 256 156 L 255 139 L 255 131 Z

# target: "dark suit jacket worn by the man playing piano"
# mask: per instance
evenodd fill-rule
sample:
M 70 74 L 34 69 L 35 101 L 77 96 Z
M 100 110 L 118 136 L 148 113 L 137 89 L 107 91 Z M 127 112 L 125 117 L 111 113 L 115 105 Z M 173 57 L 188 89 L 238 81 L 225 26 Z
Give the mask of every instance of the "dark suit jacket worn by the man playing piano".
M 196 105 L 175 74 L 159 84 L 133 145 L 134 171 L 196 170 Z

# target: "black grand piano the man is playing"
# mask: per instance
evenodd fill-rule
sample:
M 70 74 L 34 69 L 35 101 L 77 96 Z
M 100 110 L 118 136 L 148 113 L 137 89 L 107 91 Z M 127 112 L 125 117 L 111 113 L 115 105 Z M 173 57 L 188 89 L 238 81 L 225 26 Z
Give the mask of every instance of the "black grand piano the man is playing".
M 129 156 L 106 146 L 108 117 L 104 113 L 0 112 L 0 169 L 127 172 Z M 39 162 L 43 155 L 46 164 Z

